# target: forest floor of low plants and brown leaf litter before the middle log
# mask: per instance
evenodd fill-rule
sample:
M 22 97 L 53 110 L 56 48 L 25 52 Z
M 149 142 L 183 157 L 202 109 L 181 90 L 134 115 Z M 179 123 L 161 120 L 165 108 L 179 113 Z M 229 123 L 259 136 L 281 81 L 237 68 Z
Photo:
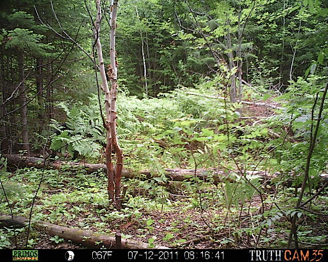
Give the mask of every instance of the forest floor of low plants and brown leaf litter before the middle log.
M 250 117 L 268 117 L 273 111 L 250 105 L 243 107 L 242 113 Z M 248 121 L 256 120 L 245 122 Z M 7 182 L 18 181 L 30 187 L 31 192 L 27 194 L 31 201 L 41 172 L 32 168 L 18 169 Z M 294 207 L 293 202 L 284 200 L 285 194 L 294 194 L 292 188 L 280 187 L 276 192 L 263 190 L 261 195 L 255 191 L 251 195 L 237 195 L 227 208 L 227 196 L 223 193 L 227 187 L 224 190 L 222 184 L 195 183 L 192 179 L 161 185 L 154 182 L 123 179 L 122 184 L 128 186 L 128 191 L 122 209 L 116 210 L 108 204 L 104 173 L 89 175 L 71 167 L 47 170 L 32 219 L 109 236 L 120 232 L 123 238 L 150 243 L 150 248 L 152 245 L 190 249 L 281 248 L 286 244 L 291 223 L 288 215 L 280 210 Z M 316 247 L 318 243 L 321 247 L 328 246 L 328 214 L 322 204 L 327 201 L 328 192 L 323 191 L 313 201 L 313 209 L 298 213 L 303 218 L 298 225 L 302 247 Z M 12 205 L 14 214 L 28 217 L 30 203 L 16 200 Z M 26 232 L 17 237 L 18 245 L 24 246 Z M 305 237 L 310 237 L 311 243 L 303 242 Z M 30 247 L 34 249 L 84 248 L 69 240 L 55 241 L 48 233 L 36 230 L 32 231 L 31 239 Z M 13 236 L 10 243 L 14 243 Z M 14 244 L 11 248 L 15 248 Z

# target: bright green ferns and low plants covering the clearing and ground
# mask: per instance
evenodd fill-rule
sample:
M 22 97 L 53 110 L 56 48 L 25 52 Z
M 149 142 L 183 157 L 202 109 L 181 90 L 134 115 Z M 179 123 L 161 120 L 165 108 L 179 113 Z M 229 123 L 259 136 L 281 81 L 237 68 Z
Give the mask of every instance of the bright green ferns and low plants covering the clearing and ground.
M 32 221 L 109 235 L 119 230 L 123 237 L 137 238 L 149 247 L 284 248 L 291 221 L 297 216 L 298 242 L 303 246 L 324 245 L 326 192 L 317 195 L 311 206 L 295 208 L 318 112 L 315 99 L 322 94 L 318 82 L 316 78 L 299 79 L 283 97 L 289 99 L 290 106 L 259 120 L 241 118 L 241 104 L 225 105 L 201 96 L 214 92 L 210 85 L 193 90 L 198 96 L 188 95 L 188 89 L 141 101 L 121 94 L 117 132 L 125 167 L 134 173 L 134 178 L 122 180 L 128 188 L 122 209 L 109 204 L 102 170 L 88 174 L 82 167 L 63 166 L 44 171 Z M 308 86 L 308 90 L 299 92 L 300 85 Z M 95 98 L 90 99 L 89 109 L 95 108 L 95 102 Z M 96 128 L 101 120 L 98 116 L 77 108 L 65 110 L 70 126 L 75 123 L 74 134 L 91 135 L 72 149 L 103 139 L 104 134 Z M 327 123 L 325 114 L 304 201 L 322 185 Z M 78 129 L 84 125 L 95 130 Z M 93 157 L 94 162 L 104 161 L 100 151 L 79 152 L 87 159 Z M 24 168 L 9 173 L 5 166 L 3 163 L 0 212 L 10 213 L 10 205 L 14 215 L 28 217 L 43 171 Z M 189 173 L 183 181 L 172 181 L 167 168 L 203 171 L 197 176 Z M 139 172 L 145 169 L 151 177 Z M 16 233 L 25 233 L 21 231 Z M 2 228 L 1 233 L 0 248 L 13 248 L 13 229 Z M 30 241 L 30 248 L 37 245 L 36 238 Z M 55 236 L 49 240 L 56 245 L 62 242 Z

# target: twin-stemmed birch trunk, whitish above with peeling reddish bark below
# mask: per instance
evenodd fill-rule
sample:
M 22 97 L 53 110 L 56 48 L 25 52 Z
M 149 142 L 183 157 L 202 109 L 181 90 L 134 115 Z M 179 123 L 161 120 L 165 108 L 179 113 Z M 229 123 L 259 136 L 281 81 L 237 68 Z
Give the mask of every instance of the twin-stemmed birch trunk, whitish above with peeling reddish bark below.
M 99 70 L 101 80 L 103 82 L 103 91 L 105 93 L 105 110 L 106 110 L 106 123 L 107 130 L 107 145 L 106 145 L 106 167 L 108 177 L 108 197 L 110 200 L 115 201 L 120 207 L 120 188 L 122 178 L 122 149 L 118 145 L 116 135 L 116 99 L 117 99 L 117 67 L 116 67 L 116 52 L 115 52 L 115 31 L 116 31 L 116 17 L 117 17 L 117 0 L 114 0 L 111 6 L 111 33 L 110 33 L 110 57 L 111 64 L 108 66 L 108 76 L 111 81 L 111 90 L 109 90 L 106 71 L 104 65 L 103 51 L 100 43 L 100 23 L 101 23 L 101 7 L 100 0 L 96 0 L 97 18 L 95 23 L 95 42 L 98 54 Z M 114 176 L 113 163 L 112 163 L 112 149 L 114 150 L 117 158 L 116 172 Z

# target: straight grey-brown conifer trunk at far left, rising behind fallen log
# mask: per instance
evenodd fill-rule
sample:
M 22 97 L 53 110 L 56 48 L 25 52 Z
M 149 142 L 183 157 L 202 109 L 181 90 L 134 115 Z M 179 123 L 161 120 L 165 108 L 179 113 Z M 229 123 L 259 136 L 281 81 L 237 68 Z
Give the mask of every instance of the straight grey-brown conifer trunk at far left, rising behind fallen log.
M 27 127 L 27 99 L 26 99 L 26 88 L 25 88 L 25 75 L 24 75 L 24 51 L 18 51 L 18 71 L 19 71 L 19 82 L 20 85 L 20 119 L 22 123 L 22 139 L 23 139 L 23 150 L 26 151 L 27 156 L 30 156 L 29 136 Z

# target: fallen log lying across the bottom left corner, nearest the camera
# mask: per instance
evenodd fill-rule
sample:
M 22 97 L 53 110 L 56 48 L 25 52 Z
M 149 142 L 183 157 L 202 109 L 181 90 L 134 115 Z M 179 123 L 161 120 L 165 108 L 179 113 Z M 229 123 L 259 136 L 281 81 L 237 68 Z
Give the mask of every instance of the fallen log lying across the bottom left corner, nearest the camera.
M 0 215 L 0 227 L 9 227 L 15 224 L 16 228 L 22 228 L 28 226 L 29 220 L 22 216 Z M 34 227 L 40 231 L 46 231 L 52 236 L 59 236 L 66 240 L 71 240 L 76 244 L 81 244 L 88 248 L 100 248 L 105 246 L 106 248 L 115 249 L 116 240 L 115 237 L 94 233 L 89 230 L 81 230 L 76 228 L 68 228 L 58 226 L 43 221 L 33 222 Z M 99 245 L 96 242 L 101 242 Z M 134 241 L 132 239 L 122 238 L 120 241 L 122 249 L 147 249 L 148 244 Z M 168 247 L 155 246 L 155 249 L 168 249 Z

